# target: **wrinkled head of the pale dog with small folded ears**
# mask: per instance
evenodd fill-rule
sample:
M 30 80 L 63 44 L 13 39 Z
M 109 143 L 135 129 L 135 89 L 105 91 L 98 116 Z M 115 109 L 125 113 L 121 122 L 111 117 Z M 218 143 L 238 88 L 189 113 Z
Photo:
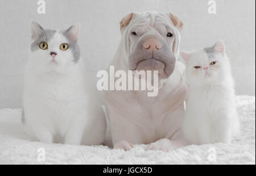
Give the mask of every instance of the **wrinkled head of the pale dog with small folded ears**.
M 130 70 L 158 70 L 160 78 L 174 72 L 183 23 L 172 14 L 133 13 L 120 23 Z

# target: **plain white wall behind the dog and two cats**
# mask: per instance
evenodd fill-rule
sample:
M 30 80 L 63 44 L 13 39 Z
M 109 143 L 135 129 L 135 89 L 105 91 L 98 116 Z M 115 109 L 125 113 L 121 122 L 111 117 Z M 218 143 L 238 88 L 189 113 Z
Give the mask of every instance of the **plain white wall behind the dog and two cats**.
M 22 107 L 23 68 L 30 44 L 30 22 L 63 29 L 81 23 L 79 43 L 88 74 L 105 69 L 121 38 L 119 21 L 133 11 L 164 11 L 184 23 L 181 49 L 226 44 L 236 93 L 255 95 L 255 0 L 216 0 L 217 14 L 208 14 L 207 0 L 0 0 L 0 108 Z

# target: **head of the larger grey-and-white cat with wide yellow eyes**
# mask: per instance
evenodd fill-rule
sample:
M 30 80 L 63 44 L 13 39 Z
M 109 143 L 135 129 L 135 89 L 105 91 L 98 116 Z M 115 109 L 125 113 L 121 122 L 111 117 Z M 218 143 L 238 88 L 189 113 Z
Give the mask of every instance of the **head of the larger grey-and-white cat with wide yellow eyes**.
M 57 71 L 76 64 L 80 58 L 77 44 L 77 27 L 68 30 L 44 30 L 37 23 L 32 23 L 31 58 L 38 68 Z

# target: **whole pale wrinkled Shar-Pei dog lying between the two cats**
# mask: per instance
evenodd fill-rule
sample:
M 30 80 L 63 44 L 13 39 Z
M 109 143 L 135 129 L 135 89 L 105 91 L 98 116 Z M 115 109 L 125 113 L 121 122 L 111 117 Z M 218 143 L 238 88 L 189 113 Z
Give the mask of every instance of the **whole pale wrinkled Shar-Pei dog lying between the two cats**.
M 176 61 L 182 27 L 176 16 L 154 11 L 122 19 L 122 40 L 110 65 L 125 72 L 158 70 L 160 88 L 156 97 L 147 97 L 147 91 L 105 91 L 114 148 L 148 144 L 148 150 L 172 150 L 185 144 L 181 126 L 187 86 L 184 65 Z

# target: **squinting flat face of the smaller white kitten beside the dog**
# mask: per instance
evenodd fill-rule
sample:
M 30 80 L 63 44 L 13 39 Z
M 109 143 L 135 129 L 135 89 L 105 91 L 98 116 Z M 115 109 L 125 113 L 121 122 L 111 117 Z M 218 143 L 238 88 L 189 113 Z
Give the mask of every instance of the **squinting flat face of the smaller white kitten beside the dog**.
M 190 85 L 204 85 L 220 82 L 224 78 L 227 58 L 224 51 L 218 52 L 216 48 L 204 48 L 187 55 L 186 77 Z M 186 58 L 184 54 L 183 58 Z

